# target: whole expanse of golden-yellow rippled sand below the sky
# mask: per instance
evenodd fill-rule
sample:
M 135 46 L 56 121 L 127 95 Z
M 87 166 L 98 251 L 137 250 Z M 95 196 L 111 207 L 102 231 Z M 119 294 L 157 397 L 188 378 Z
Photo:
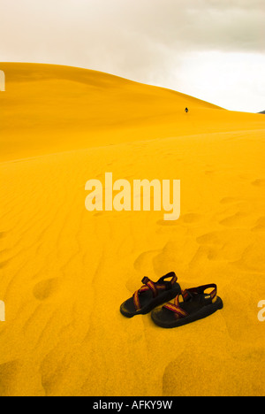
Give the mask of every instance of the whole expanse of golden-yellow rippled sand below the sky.
M 264 395 L 262 115 L 106 73 L 0 68 L 0 395 Z M 181 180 L 180 219 L 86 211 L 105 172 Z M 144 275 L 170 271 L 216 282 L 223 311 L 169 331 L 120 315 Z

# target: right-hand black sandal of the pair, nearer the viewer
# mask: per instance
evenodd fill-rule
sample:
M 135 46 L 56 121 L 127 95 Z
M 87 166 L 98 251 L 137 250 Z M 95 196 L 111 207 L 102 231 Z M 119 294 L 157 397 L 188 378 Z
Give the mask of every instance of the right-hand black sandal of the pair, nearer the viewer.
M 206 294 L 205 290 L 208 288 L 214 288 L 214 290 Z M 183 303 L 179 303 L 180 295 L 183 297 Z M 207 318 L 212 313 L 223 309 L 223 301 L 217 296 L 215 284 L 186 289 L 180 295 L 176 296 L 174 303 L 166 303 L 163 308 L 152 312 L 151 316 L 155 325 L 164 328 L 183 326 Z

